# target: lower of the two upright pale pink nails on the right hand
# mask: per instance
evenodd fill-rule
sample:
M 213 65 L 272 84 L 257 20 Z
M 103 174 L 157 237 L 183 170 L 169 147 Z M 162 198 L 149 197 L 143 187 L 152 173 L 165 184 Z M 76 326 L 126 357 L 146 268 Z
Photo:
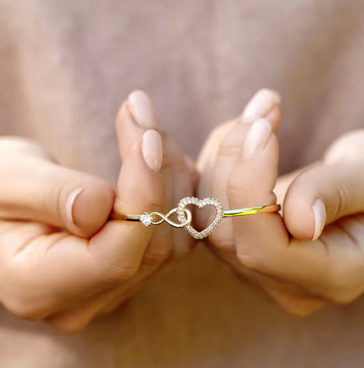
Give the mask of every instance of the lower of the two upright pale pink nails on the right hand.
M 244 142 L 243 156 L 250 159 L 264 150 L 272 135 L 272 125 L 266 119 L 258 119 L 248 130 Z

